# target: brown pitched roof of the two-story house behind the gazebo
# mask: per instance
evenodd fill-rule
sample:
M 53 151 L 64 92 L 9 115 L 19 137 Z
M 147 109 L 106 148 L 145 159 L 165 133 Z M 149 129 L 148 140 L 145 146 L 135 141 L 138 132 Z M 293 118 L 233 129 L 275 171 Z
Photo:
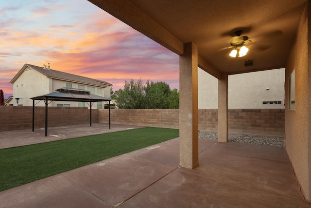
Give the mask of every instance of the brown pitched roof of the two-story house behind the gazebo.
M 107 87 L 107 85 L 108 86 L 112 86 L 112 84 L 110 84 L 108 82 L 105 82 L 105 81 L 102 81 L 102 80 L 88 78 L 88 77 L 85 77 L 85 76 L 73 75 L 73 74 L 69 74 L 69 73 L 66 73 L 66 72 L 60 72 L 60 71 L 57 71 L 57 70 L 43 68 L 43 67 L 40 67 L 40 66 L 35 66 L 35 65 L 32 65 L 32 64 L 27 64 L 27 63 L 13 77 L 13 79 L 10 81 L 10 84 L 13 84 L 17 80 L 17 78 L 28 67 L 34 69 L 35 71 L 41 73 L 44 76 L 52 78 L 52 79 L 59 79 L 59 80 L 70 81 L 70 82 L 77 82 L 77 83 L 93 85 L 93 86 L 99 86 L 99 87 Z

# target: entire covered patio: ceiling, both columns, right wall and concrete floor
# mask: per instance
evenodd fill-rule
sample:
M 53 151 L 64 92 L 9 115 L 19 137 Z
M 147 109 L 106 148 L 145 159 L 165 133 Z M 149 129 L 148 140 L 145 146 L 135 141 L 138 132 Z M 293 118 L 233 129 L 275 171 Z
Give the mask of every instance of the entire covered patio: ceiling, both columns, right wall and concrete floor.
M 310 207 L 290 162 L 310 201 L 310 2 L 89 1 L 180 56 L 180 136 L 2 191 L 1 206 Z M 239 30 L 254 44 L 232 58 L 228 47 Z M 198 138 L 198 66 L 219 80 L 218 142 Z M 227 142 L 228 75 L 280 67 L 286 149 Z M 288 94 L 293 71 L 295 100 Z

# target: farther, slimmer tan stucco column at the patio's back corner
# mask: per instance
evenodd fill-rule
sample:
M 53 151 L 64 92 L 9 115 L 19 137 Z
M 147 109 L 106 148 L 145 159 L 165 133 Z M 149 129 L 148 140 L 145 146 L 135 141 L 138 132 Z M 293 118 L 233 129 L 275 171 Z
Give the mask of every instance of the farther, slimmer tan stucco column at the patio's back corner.
M 228 75 L 218 79 L 218 142 L 228 142 Z

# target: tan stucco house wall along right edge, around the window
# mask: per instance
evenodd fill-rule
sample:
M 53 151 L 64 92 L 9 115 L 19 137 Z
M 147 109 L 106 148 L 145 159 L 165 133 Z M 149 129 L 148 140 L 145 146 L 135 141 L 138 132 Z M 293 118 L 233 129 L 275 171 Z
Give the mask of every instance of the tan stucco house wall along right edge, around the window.
M 309 9 L 309 14 L 308 14 Z M 309 17 L 309 18 L 308 18 Z M 286 64 L 285 100 L 289 100 L 288 78 L 295 70 L 295 109 L 285 106 L 286 151 L 294 167 L 301 190 L 311 200 L 311 6 L 307 6 L 297 29 L 294 45 Z M 309 31 L 308 31 L 309 28 Z

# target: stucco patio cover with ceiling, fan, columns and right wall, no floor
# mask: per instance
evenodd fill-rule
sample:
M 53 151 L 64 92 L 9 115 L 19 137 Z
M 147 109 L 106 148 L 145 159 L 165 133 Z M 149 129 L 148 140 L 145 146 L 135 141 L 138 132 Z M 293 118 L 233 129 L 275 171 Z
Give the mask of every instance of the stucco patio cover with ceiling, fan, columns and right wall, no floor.
M 89 1 L 179 55 L 181 167 L 195 169 L 203 162 L 198 67 L 218 79 L 218 142 L 224 143 L 228 76 L 285 68 L 286 151 L 302 192 L 311 200 L 310 1 Z

